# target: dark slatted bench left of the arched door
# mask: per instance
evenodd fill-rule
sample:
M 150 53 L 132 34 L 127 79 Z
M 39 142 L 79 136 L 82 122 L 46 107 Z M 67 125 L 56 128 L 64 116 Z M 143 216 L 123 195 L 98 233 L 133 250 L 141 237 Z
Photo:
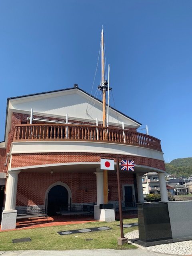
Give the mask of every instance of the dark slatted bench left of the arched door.
M 45 208 L 42 206 L 23 206 L 17 207 L 17 219 L 27 219 L 30 218 L 48 218 Z

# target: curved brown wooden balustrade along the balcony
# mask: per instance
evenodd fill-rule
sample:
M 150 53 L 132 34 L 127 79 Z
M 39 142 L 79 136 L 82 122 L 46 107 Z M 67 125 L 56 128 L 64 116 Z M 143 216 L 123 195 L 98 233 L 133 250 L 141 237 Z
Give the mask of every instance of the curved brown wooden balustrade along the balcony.
M 22 124 L 15 126 L 13 141 L 89 140 L 107 141 L 161 150 L 160 140 L 129 130 L 77 124 Z

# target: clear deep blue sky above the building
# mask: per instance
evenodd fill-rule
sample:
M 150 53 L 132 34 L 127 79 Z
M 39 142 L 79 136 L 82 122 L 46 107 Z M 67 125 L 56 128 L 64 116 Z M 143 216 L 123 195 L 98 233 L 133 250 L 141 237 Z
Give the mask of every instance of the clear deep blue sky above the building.
M 102 25 L 115 107 L 148 125 L 166 162 L 192 157 L 191 0 L 1 0 L 0 141 L 8 97 L 91 92 Z M 100 71 L 92 94 L 99 83 Z

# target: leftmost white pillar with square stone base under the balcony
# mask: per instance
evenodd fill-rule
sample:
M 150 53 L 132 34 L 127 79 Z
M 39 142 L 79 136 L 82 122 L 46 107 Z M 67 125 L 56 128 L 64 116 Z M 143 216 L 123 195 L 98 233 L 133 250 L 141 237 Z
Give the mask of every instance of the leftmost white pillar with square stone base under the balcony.
M 16 227 L 17 211 L 16 194 L 19 170 L 8 171 L 8 180 L 6 184 L 5 209 L 2 212 L 1 230 L 14 229 Z

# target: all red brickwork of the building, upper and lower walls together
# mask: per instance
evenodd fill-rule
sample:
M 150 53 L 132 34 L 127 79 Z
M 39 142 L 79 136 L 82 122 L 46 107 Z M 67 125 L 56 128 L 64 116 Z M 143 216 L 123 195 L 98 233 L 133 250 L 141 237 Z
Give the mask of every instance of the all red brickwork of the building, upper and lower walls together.
M 11 129 L 8 134 L 8 143 L 6 150 L 0 150 L 0 168 L 6 161 L 6 153 L 10 151 L 10 146 L 14 136 L 16 124 L 26 123 L 26 114 L 13 113 Z M 59 118 L 46 118 L 43 116 L 34 116 L 35 118 L 45 118 L 49 120 L 61 120 Z M 63 121 L 63 120 L 61 120 Z M 69 120 L 69 122 L 75 122 Z M 36 122 L 39 123 L 39 122 Z M 86 124 L 86 123 L 84 123 Z M 130 130 L 134 130 L 131 129 Z M 145 158 L 142 156 L 124 156 L 99 153 L 32 153 L 32 154 L 13 154 L 11 168 L 19 168 L 33 165 L 62 164 L 72 162 L 100 162 L 100 158 L 116 159 L 116 157 L 134 160 L 135 164 L 152 168 L 165 170 L 164 161 Z M 116 160 L 115 160 L 116 161 Z M 4 167 L 5 172 L 8 170 Z M 134 174 L 126 173 L 120 175 L 121 193 L 123 196 L 122 185 L 134 184 L 136 188 L 136 179 Z M 67 184 L 72 192 L 72 203 L 96 202 L 96 175 L 93 173 L 25 173 L 21 171 L 18 175 L 18 188 L 16 206 L 25 205 L 44 205 L 46 190 L 56 182 Z M 109 200 L 118 200 L 116 173 L 108 172 Z M 136 195 L 137 197 L 137 195 Z M 123 199 L 123 198 L 122 198 Z

